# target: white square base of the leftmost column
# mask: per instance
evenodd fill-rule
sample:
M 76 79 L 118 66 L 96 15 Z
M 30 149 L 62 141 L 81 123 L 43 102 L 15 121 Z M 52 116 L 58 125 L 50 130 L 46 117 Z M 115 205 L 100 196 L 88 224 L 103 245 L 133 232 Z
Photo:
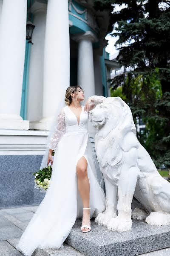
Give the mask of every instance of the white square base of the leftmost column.
M 28 130 L 28 120 L 0 119 L 0 129 Z

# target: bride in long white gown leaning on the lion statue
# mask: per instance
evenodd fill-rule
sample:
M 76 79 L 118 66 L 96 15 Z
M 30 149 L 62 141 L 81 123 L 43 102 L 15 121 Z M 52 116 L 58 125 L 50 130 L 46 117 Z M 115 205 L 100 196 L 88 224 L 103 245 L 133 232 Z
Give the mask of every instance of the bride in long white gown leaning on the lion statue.
M 81 231 L 89 232 L 90 219 L 105 210 L 103 177 L 88 135 L 88 111 L 105 97 L 92 96 L 80 105 L 83 100 L 81 87 L 68 87 L 66 106 L 59 109 L 54 132 L 48 135 L 43 160 L 46 166 L 53 164 L 51 183 L 17 244 L 25 256 L 36 248 L 63 248 L 77 218 L 82 218 Z

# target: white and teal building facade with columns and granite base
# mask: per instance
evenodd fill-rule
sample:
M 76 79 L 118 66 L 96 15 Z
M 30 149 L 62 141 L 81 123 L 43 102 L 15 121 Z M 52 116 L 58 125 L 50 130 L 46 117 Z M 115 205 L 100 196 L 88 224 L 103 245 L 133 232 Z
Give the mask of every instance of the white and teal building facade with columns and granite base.
M 93 0 L 0 0 L 0 207 L 38 204 L 34 189 L 57 104 L 70 85 L 110 96 L 109 17 Z M 31 7 L 31 8 L 30 8 Z M 35 28 L 26 40 L 26 22 Z

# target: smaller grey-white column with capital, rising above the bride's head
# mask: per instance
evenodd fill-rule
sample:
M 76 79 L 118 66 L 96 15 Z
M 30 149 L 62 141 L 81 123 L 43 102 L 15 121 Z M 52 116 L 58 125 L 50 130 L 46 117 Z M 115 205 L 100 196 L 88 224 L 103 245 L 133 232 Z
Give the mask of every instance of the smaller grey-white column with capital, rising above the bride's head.
M 82 35 L 74 35 L 72 38 L 78 42 L 77 85 L 82 87 L 85 99 L 88 99 L 95 94 L 92 42 L 96 42 L 98 39 L 91 31 Z

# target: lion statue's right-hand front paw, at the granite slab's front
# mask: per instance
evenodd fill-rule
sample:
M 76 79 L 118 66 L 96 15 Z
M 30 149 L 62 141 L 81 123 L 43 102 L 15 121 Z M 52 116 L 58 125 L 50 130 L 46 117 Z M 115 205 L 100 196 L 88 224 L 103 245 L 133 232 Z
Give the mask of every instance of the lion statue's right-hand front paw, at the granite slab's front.
M 132 228 L 132 220 L 123 220 L 119 217 L 111 218 L 107 224 L 108 230 L 117 231 L 117 232 L 124 232 L 129 231 Z

